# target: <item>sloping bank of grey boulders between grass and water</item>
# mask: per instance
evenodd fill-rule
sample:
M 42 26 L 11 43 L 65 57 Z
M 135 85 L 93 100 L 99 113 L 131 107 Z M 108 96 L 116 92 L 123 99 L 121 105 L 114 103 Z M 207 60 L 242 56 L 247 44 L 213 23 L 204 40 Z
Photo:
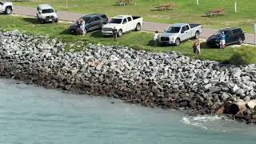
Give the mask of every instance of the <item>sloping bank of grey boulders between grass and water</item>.
M 237 67 L 122 46 L 90 44 L 71 52 L 67 45 L 74 44 L 16 30 L 0 32 L 0 76 L 142 106 L 184 108 L 188 114 L 215 114 L 226 103 L 256 98 L 255 65 Z M 247 106 L 234 118 L 256 123 L 255 111 Z

